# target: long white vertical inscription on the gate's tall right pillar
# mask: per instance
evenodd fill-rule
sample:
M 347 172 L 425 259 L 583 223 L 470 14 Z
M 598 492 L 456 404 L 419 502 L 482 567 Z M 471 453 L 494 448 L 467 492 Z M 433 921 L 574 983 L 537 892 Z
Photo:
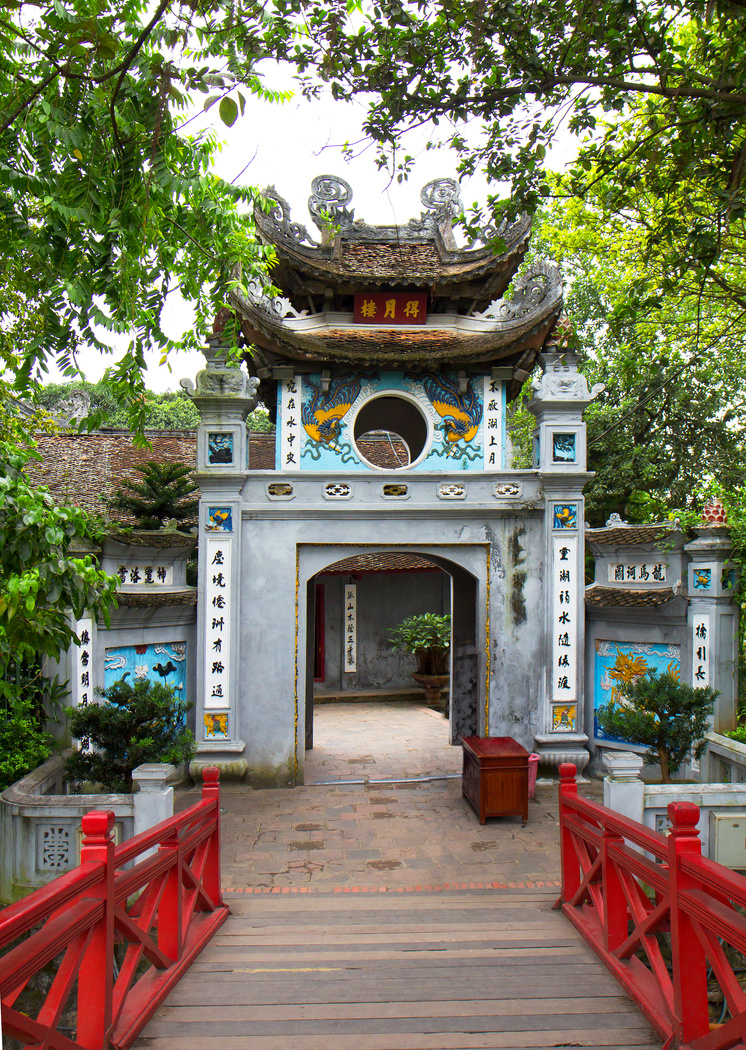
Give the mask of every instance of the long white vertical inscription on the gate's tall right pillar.
M 553 538 L 552 696 L 576 700 L 578 649 L 578 538 Z

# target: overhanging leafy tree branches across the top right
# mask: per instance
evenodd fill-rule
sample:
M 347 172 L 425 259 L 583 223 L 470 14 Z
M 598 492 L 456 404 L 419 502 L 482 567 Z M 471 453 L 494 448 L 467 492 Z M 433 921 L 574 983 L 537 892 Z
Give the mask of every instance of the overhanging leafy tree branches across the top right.
M 305 5 L 277 6 L 287 35 Z M 621 207 L 640 189 L 683 190 L 690 222 L 662 211 L 651 237 L 670 240 L 677 270 L 708 268 L 745 214 L 745 16 L 744 0 L 372 0 L 361 18 L 306 15 L 294 49 L 335 96 L 371 96 L 381 163 L 402 130 L 441 122 L 463 172 L 510 183 L 493 209 L 533 213 L 555 192 L 546 156 L 567 130 L 579 153 L 563 192 L 609 178 Z M 400 174 L 411 160 L 400 148 Z

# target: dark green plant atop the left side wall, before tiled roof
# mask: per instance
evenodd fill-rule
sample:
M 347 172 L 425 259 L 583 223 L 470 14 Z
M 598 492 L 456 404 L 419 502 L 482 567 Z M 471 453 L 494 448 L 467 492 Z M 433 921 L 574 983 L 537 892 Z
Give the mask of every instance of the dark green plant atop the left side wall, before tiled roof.
M 137 519 L 134 528 L 157 529 L 175 519 L 187 531 L 196 521 L 198 486 L 191 481 L 191 468 L 184 463 L 150 461 L 134 469 L 142 481 L 127 479 L 107 501 L 115 510 Z

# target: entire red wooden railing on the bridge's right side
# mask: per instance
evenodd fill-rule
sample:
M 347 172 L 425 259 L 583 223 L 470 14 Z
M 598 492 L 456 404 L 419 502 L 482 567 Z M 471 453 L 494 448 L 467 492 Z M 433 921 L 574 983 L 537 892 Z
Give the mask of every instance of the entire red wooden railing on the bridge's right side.
M 578 796 L 560 765 L 563 914 L 640 1006 L 665 1050 L 746 1046 L 746 879 L 701 856 L 699 807 L 663 836 Z M 708 983 L 729 1018 L 711 1024 Z M 725 1011 L 723 1013 L 725 1016 Z

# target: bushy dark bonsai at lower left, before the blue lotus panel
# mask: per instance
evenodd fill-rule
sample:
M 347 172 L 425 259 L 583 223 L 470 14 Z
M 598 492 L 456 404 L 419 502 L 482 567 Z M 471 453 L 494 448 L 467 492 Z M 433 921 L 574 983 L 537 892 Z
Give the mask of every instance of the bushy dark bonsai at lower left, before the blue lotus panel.
M 143 762 L 188 761 L 194 737 L 184 726 L 192 707 L 175 696 L 171 686 L 125 674 L 108 689 L 98 690 L 102 702 L 68 708 L 72 736 L 80 740 L 65 762 L 70 783 L 86 781 L 111 792 L 132 790 L 132 771 Z M 90 749 L 90 750 L 89 750 Z

